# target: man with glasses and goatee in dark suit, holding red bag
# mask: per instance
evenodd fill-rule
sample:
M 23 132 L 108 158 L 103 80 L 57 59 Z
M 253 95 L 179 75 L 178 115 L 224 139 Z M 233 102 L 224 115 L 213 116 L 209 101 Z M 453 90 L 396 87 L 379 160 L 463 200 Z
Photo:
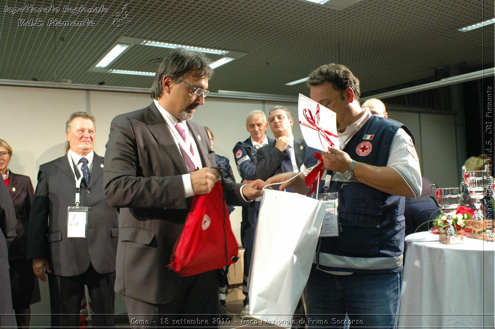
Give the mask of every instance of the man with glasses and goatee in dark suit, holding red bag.
M 104 183 L 108 203 L 120 208 L 115 291 L 133 327 L 210 327 L 218 318 L 216 271 L 180 277 L 167 267 L 192 196 L 209 193 L 219 178 L 209 168 L 215 152 L 206 130 L 189 120 L 204 104 L 212 73 L 203 54 L 172 50 L 156 72 L 152 103 L 110 125 Z M 248 205 L 264 186 L 227 182 L 232 205 Z

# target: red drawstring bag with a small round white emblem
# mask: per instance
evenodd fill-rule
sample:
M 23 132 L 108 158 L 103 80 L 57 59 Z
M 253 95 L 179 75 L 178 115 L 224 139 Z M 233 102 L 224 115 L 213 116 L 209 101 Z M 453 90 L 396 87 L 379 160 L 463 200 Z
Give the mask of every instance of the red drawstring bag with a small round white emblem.
M 219 181 L 208 194 L 194 196 L 167 266 L 189 277 L 233 264 L 238 249 Z

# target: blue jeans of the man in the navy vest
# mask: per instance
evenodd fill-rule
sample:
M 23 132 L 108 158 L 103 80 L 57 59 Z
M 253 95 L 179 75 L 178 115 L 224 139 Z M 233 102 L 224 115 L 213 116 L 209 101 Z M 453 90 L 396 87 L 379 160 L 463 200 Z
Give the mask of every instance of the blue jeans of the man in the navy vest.
M 306 284 L 308 327 L 396 328 L 402 274 L 333 275 L 312 268 Z

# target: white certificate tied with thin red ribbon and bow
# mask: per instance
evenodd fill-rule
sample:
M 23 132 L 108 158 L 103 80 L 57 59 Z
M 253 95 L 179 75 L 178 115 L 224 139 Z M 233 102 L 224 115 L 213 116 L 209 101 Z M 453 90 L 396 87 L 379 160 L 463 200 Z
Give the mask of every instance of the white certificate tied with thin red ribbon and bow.
M 299 94 L 297 113 L 302 137 L 308 146 L 325 152 L 328 146 L 340 148 L 334 111 Z

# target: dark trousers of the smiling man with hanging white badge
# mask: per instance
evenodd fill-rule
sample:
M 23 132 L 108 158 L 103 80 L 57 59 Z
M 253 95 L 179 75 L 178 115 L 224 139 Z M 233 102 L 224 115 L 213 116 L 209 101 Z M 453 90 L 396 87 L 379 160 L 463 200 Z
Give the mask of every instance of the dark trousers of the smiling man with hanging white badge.
M 93 327 L 114 327 L 115 272 L 100 274 L 90 264 L 88 270 L 74 277 L 49 274 L 51 327 L 79 328 L 79 313 L 84 286 L 93 303 Z

